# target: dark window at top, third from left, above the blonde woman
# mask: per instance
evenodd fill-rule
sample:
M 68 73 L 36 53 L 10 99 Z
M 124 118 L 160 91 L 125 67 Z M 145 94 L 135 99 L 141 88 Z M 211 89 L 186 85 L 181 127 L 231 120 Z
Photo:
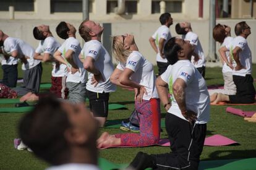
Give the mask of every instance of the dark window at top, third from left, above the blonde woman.
M 118 6 L 116 0 L 107 1 L 107 14 L 114 13 L 114 9 Z M 125 14 L 137 14 L 137 1 L 126 0 Z

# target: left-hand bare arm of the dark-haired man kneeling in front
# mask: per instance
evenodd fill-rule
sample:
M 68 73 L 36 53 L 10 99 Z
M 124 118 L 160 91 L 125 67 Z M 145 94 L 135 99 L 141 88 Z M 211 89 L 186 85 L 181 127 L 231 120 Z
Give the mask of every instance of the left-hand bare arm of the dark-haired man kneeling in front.
M 168 111 L 168 109 L 171 107 L 171 102 L 169 101 L 168 97 L 168 83 L 164 82 L 164 80 L 161 79 L 161 76 L 158 76 L 156 79 L 156 89 L 158 95 L 160 96 L 161 102 L 164 104 L 164 109 Z

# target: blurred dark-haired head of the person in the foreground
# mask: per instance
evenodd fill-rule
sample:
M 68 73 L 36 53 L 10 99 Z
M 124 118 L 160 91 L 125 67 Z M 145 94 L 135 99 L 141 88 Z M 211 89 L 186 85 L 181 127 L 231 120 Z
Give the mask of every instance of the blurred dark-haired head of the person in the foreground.
M 36 156 L 50 164 L 97 164 L 98 124 L 84 104 L 41 98 L 20 120 L 19 135 Z

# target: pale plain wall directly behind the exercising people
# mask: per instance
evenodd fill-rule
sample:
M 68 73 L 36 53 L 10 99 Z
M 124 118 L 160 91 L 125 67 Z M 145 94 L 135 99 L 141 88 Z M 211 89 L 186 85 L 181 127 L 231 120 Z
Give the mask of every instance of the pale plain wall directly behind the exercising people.
M 234 25 L 236 25 L 237 22 L 240 22 L 241 20 L 217 20 L 216 23 L 224 23 L 226 25 L 231 26 L 231 34 L 234 36 Z M 64 40 L 61 40 L 55 32 L 55 28 L 58 25 L 58 23 L 61 22 L 61 20 L 0 20 L 0 29 L 7 33 L 9 36 L 20 38 L 24 41 L 27 41 L 30 45 L 32 45 L 34 48 L 38 45 L 38 40 L 35 40 L 33 38 L 33 27 L 40 24 L 46 24 L 49 25 L 53 35 L 59 40 L 60 43 L 62 43 Z M 80 25 L 81 20 L 66 20 L 66 22 L 70 22 L 74 24 L 74 26 L 77 28 Z M 179 22 L 178 20 L 175 20 L 174 23 L 171 25 L 171 34 L 173 36 L 176 36 L 175 32 L 175 25 Z M 256 20 L 246 20 L 246 22 L 249 24 L 251 28 L 252 34 L 248 38 L 248 43 L 250 46 L 250 49 L 252 50 L 252 60 L 254 63 L 256 63 L 256 48 L 254 47 L 256 43 Z M 101 22 L 103 23 L 103 22 Z M 109 22 L 105 22 L 109 23 Z M 208 27 L 208 20 L 193 20 L 191 21 L 193 31 L 198 34 L 199 39 L 203 46 L 203 51 L 205 52 L 205 56 L 208 54 L 208 40 L 209 40 L 209 27 Z M 158 20 L 153 21 L 113 21 L 111 23 L 111 34 L 112 35 L 121 35 L 124 33 L 131 33 L 135 35 L 135 41 L 139 47 L 140 52 L 147 57 L 149 61 L 151 61 L 153 64 L 156 63 L 155 61 L 155 52 L 150 46 L 150 43 L 148 42 L 148 39 L 151 35 L 155 32 L 155 30 L 160 26 L 160 23 Z M 77 38 L 82 42 L 82 38 L 80 38 L 80 35 L 77 33 Z M 218 49 L 219 45 L 216 43 L 216 49 Z M 217 53 L 218 54 L 218 53 Z M 210 66 L 210 64 L 208 64 Z

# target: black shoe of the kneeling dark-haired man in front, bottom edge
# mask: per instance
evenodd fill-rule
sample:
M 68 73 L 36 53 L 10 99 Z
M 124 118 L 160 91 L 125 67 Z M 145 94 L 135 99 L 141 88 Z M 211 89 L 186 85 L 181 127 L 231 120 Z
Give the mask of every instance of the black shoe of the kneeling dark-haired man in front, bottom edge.
M 155 158 L 139 151 L 127 169 L 143 170 L 147 168 L 156 168 Z

